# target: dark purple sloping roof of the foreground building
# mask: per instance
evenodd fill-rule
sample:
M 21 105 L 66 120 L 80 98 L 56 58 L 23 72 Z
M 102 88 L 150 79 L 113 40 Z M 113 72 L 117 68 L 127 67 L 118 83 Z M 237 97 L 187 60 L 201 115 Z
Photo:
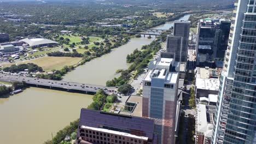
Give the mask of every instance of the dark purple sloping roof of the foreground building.
M 103 111 L 95 111 L 81 109 L 79 126 L 86 125 L 87 127 L 100 128 L 108 127 L 108 129 L 130 130 L 131 134 L 136 131 L 144 131 L 143 135 L 153 140 L 154 137 L 154 121 L 149 118 L 120 115 L 117 113 L 109 113 Z

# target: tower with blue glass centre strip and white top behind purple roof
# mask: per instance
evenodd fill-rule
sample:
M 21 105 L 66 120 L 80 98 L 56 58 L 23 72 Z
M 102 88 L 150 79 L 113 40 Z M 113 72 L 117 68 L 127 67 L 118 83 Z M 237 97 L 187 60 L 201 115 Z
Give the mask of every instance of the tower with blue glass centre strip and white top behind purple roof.
M 158 143 L 174 143 L 179 63 L 159 58 L 143 79 L 142 116 L 155 119 Z

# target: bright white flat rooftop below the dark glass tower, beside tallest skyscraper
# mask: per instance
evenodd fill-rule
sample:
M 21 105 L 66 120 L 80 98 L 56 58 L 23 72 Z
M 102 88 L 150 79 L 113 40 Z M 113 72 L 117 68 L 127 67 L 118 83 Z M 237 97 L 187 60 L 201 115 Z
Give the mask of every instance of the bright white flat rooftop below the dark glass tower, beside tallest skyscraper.
M 197 89 L 206 89 L 211 91 L 219 90 L 219 79 L 196 79 L 196 88 Z

